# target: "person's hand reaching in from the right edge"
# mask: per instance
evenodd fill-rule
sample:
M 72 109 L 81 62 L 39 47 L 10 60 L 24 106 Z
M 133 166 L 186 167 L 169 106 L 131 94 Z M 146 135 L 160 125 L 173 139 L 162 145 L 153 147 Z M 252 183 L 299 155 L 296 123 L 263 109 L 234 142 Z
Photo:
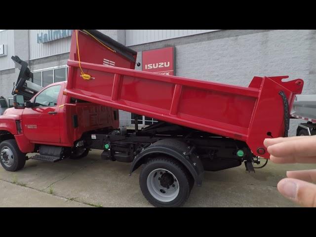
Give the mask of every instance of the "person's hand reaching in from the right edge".
M 267 138 L 264 141 L 274 163 L 316 163 L 316 135 Z M 306 207 L 316 207 L 316 169 L 287 171 L 277 184 L 286 198 Z

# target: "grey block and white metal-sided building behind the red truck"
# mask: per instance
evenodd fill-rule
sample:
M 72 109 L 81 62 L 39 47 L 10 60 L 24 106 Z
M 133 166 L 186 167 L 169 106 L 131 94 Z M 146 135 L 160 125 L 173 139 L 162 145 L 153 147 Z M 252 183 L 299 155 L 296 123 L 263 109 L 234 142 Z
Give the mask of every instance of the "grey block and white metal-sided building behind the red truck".
M 138 52 L 174 48 L 176 76 L 248 86 L 254 76 L 304 79 L 303 94 L 316 93 L 315 30 L 99 30 Z M 67 79 L 71 30 L 4 30 L 0 32 L 0 95 L 12 97 L 19 69 L 12 55 L 27 61 L 34 82 L 46 86 Z M 143 70 L 143 67 L 136 67 Z M 211 109 L 211 108 L 205 108 Z M 120 111 L 121 125 L 134 115 Z M 291 119 L 295 135 L 300 119 Z M 140 117 L 140 125 L 155 122 Z

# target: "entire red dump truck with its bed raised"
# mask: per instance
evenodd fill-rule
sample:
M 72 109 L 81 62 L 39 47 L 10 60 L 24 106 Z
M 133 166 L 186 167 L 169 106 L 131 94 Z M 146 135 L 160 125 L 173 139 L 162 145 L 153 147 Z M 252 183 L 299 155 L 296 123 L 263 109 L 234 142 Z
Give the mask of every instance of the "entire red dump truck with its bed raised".
M 269 158 L 265 138 L 287 136 L 289 108 L 303 80 L 254 77 L 248 87 L 136 71 L 136 52 L 95 30 L 72 35 L 67 82 L 32 99 L 14 95 L 0 116 L 0 162 L 8 171 L 33 159 L 101 158 L 143 165 L 139 183 L 150 203 L 185 203 L 205 171 L 248 171 Z M 189 57 L 190 55 L 188 55 Z M 118 110 L 155 118 L 141 130 L 119 127 Z

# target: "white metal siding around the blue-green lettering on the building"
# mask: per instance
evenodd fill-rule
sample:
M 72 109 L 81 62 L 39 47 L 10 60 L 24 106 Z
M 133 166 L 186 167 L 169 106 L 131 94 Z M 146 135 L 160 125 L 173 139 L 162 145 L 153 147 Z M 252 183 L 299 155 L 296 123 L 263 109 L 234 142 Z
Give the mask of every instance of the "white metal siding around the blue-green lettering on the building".
M 30 30 L 30 60 L 68 53 L 70 51 L 71 37 L 46 43 L 38 43 L 37 34 L 41 32 L 44 33 L 47 32 L 47 30 Z

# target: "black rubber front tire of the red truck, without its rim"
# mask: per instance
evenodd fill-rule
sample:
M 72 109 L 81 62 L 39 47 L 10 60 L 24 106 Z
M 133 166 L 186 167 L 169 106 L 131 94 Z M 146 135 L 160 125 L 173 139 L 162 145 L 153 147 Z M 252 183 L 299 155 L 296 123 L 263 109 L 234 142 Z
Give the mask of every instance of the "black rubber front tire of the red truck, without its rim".
M 18 171 L 22 169 L 25 165 L 26 161 L 26 154 L 22 153 L 16 144 L 16 141 L 14 139 L 5 140 L 0 143 L 0 152 L 4 147 L 9 148 L 12 151 L 13 156 L 13 164 L 11 166 L 6 166 L 2 161 L 2 155 L 0 156 L 0 162 L 2 167 L 7 171 Z

